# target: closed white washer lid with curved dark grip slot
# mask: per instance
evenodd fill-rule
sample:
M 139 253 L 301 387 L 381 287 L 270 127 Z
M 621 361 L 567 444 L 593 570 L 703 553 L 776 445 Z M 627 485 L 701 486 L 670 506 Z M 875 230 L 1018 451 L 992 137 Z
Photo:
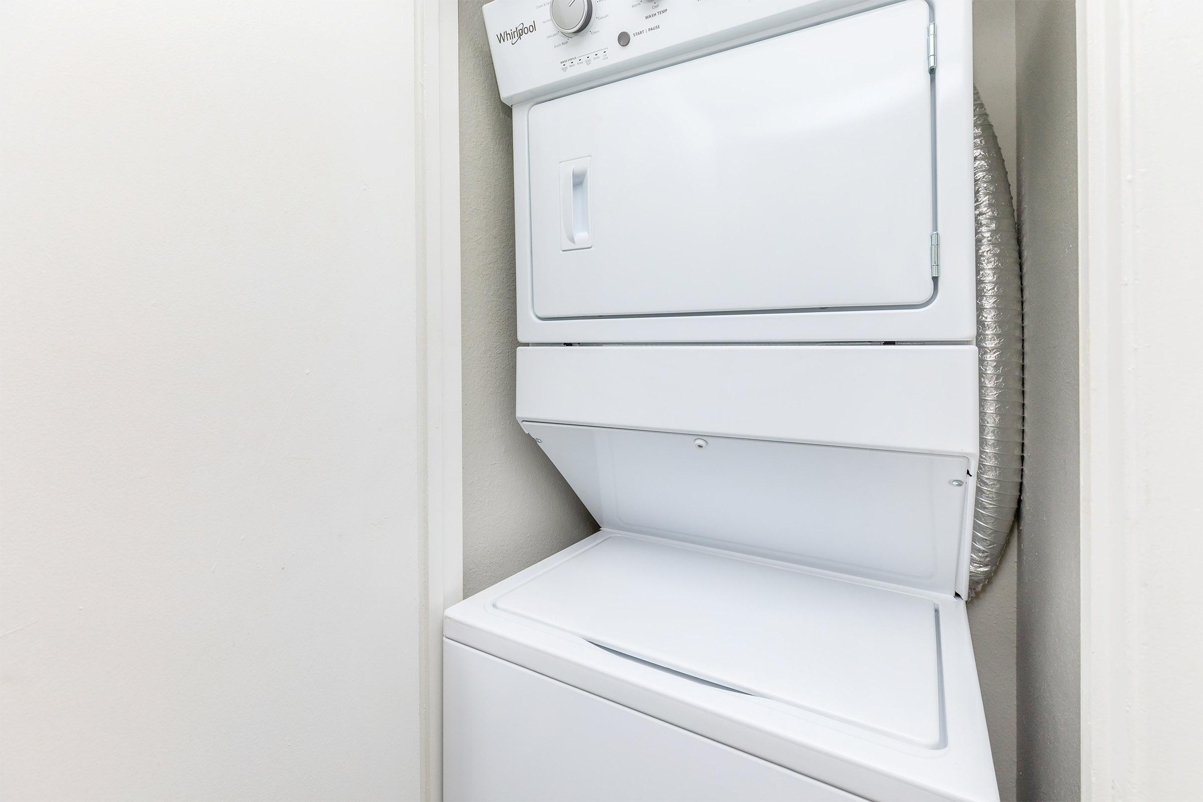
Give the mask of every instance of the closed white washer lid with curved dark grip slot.
M 704 682 L 943 745 L 936 606 L 920 595 L 614 535 L 494 606 Z

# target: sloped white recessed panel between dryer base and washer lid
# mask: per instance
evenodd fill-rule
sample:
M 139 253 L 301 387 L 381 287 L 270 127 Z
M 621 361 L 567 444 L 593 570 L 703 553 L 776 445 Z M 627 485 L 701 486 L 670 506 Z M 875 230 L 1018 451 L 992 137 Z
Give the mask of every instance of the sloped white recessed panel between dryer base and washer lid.
M 968 461 L 523 421 L 603 527 L 952 594 Z

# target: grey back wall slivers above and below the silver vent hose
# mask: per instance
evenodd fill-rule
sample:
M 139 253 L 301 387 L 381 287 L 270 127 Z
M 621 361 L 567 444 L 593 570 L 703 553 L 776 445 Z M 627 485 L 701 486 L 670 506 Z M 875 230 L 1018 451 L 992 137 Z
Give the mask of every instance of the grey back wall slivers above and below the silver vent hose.
M 973 83 L 1015 189 L 1015 0 L 974 0 Z M 1015 535 L 985 590 L 968 605 L 990 748 L 1003 802 L 1015 798 Z

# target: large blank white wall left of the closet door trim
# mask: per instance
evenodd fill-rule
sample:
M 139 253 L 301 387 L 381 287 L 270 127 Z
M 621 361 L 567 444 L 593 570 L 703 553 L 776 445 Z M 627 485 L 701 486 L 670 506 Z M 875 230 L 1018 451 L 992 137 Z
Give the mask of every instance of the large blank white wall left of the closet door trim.
M 414 798 L 408 4 L 0 6 L 0 795 Z

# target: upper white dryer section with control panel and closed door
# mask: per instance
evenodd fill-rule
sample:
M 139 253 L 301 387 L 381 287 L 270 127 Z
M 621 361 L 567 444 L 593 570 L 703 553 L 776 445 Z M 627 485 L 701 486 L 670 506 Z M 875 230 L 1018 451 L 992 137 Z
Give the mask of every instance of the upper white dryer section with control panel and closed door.
M 972 340 L 968 0 L 576 5 L 485 6 L 521 341 Z

